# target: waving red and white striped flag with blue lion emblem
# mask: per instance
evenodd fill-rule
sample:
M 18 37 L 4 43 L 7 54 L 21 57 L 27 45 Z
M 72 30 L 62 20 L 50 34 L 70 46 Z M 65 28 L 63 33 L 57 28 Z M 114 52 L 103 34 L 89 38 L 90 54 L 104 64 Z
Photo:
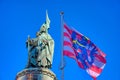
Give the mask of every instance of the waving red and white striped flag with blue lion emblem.
M 76 60 L 78 66 L 96 80 L 106 64 L 106 55 L 90 39 L 66 24 L 63 34 L 63 55 Z

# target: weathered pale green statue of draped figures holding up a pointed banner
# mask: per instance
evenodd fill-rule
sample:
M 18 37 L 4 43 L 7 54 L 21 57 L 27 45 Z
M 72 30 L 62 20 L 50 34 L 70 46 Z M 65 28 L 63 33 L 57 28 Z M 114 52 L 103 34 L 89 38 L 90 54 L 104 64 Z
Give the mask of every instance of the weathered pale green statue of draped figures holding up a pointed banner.
M 27 67 L 51 68 L 54 53 L 54 40 L 48 34 L 50 20 L 46 13 L 46 22 L 36 33 L 36 38 L 27 40 L 28 65 Z

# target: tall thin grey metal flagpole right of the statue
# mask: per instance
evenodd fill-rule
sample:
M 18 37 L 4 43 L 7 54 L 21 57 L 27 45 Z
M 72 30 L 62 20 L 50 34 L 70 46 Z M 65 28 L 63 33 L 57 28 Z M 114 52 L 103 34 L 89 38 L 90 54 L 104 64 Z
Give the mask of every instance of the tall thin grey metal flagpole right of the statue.
M 61 69 L 61 80 L 64 80 L 64 56 L 63 56 L 63 40 L 64 40 L 64 35 L 63 35 L 63 17 L 64 17 L 64 12 L 61 11 L 60 12 L 60 16 L 61 16 L 61 65 L 60 65 L 60 69 Z

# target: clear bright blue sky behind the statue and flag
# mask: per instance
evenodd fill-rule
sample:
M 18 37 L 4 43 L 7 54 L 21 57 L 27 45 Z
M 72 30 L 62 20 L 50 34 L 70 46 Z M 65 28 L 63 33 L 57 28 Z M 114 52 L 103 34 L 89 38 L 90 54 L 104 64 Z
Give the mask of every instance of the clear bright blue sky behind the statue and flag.
M 48 10 L 49 33 L 55 40 L 53 72 L 60 80 L 60 11 L 64 20 L 89 37 L 104 53 L 107 64 L 98 80 L 119 80 L 119 0 L 0 0 L 0 80 L 14 80 L 27 63 L 27 36 L 35 37 Z M 92 80 L 77 63 L 65 57 L 65 80 Z

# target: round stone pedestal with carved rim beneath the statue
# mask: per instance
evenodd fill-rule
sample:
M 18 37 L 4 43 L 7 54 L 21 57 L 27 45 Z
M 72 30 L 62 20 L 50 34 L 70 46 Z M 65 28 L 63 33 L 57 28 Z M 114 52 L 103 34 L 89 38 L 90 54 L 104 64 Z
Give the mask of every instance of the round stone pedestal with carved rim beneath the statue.
M 27 68 L 17 74 L 16 80 L 57 80 L 57 78 L 47 68 Z

